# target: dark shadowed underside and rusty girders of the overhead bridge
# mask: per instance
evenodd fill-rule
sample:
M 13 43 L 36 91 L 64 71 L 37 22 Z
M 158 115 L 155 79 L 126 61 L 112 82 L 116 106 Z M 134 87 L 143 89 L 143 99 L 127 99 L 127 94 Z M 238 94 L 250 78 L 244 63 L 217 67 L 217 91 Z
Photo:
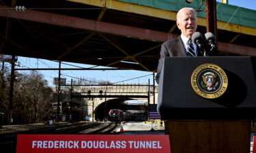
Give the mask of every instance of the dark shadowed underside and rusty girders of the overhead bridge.
M 76 2 L 12 0 L 28 8 L 22 12 L 3 0 L 0 54 L 156 71 L 160 44 L 180 34 L 175 20 L 131 13 L 108 3 L 136 5 L 114 0 L 104 0 L 102 5 L 94 4 L 99 0 Z M 199 24 L 198 31 L 205 33 L 205 27 Z M 220 55 L 256 56 L 254 33 L 218 32 Z

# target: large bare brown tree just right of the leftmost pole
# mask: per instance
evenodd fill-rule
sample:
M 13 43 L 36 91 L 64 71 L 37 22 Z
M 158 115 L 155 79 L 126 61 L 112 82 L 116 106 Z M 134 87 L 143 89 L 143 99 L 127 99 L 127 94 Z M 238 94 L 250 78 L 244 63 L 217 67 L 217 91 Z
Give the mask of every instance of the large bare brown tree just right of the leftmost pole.
M 53 91 L 47 86 L 42 75 L 32 71 L 28 76 L 19 74 L 19 81 L 14 88 L 14 109 L 20 120 L 40 122 L 50 112 L 49 103 Z M 23 112 L 20 112 L 22 110 Z M 23 115 L 23 116 L 22 116 Z M 22 118 L 23 117 L 23 118 Z

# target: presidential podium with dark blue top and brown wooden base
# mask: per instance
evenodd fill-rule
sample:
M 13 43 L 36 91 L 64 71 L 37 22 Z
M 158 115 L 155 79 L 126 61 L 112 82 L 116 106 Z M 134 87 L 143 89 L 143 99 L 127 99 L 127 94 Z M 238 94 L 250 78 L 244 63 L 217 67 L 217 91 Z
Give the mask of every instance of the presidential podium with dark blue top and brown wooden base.
M 158 112 L 171 153 L 248 153 L 256 115 L 256 59 L 166 57 Z

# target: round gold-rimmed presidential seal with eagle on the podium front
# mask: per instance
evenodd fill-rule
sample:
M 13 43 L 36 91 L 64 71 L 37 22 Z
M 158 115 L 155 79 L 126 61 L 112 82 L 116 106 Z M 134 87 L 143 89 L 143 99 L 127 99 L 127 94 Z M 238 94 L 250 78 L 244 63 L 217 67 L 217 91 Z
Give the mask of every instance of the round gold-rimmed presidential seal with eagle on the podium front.
M 216 99 L 227 90 L 227 75 L 221 67 L 203 64 L 191 76 L 191 85 L 197 95 L 206 99 Z

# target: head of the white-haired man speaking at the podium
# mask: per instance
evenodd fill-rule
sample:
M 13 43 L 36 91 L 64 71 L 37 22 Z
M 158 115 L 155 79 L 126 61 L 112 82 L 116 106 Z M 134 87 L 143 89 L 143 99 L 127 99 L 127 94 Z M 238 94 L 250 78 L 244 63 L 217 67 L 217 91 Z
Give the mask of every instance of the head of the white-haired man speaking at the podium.
M 182 35 L 191 38 L 197 30 L 197 16 L 192 10 L 183 10 L 177 19 L 177 27 L 182 31 Z

